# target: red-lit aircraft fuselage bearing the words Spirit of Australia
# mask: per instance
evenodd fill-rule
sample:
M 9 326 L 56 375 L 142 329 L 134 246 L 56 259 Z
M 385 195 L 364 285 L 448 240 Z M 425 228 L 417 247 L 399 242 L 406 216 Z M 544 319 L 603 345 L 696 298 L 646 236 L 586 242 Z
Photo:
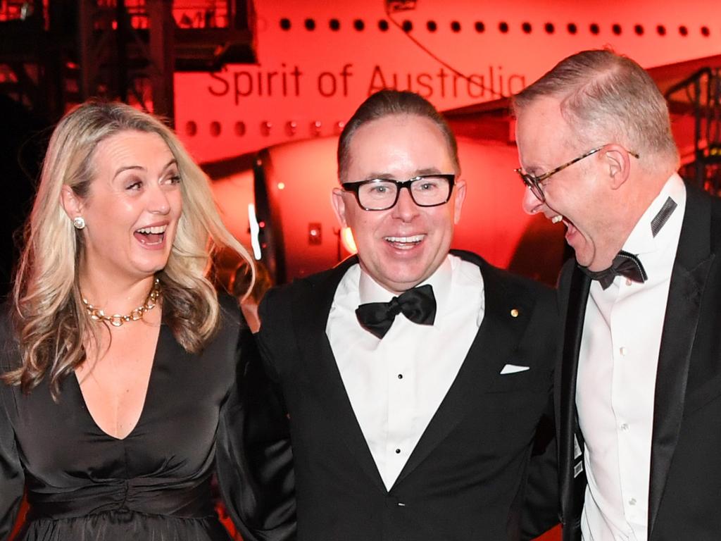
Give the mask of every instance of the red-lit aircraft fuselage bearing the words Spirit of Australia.
M 176 10 L 187 6 L 191 19 L 198 17 L 193 12 L 198 4 L 174 3 Z M 412 38 L 471 76 L 469 83 L 392 23 L 386 32 L 379 30 L 379 21 L 388 21 L 384 4 L 255 0 L 257 65 L 175 76 L 177 129 L 196 159 L 208 162 L 283 141 L 333 135 L 369 93 L 383 86 L 410 88 L 446 110 L 517 92 L 584 48 L 611 45 L 645 67 L 721 53 L 717 0 L 418 0 L 415 10 L 394 14 L 399 23 L 412 24 Z M 290 30 L 281 29 L 281 19 L 288 19 Z M 306 19 L 312 19 L 314 30 L 306 29 Z M 332 19 L 339 30 L 330 28 Z M 363 22 L 363 30 L 356 30 L 355 21 Z M 429 21 L 435 32 L 428 30 Z M 452 30 L 454 22 L 458 32 Z M 477 22 L 483 32 L 476 30 Z M 503 23 L 506 32 L 500 29 Z M 575 34 L 569 24 L 575 25 Z M 591 25 L 598 26 L 598 34 Z M 686 35 L 679 32 L 681 26 Z

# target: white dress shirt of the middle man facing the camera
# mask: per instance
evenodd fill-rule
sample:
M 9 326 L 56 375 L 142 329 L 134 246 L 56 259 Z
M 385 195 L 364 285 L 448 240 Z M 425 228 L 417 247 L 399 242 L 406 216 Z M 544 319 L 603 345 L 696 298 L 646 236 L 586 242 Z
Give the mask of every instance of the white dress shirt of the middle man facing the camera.
M 335 292 L 326 327 L 345 391 L 388 490 L 456 379 L 483 320 L 477 265 L 448 255 L 425 283 L 435 295 L 433 325 L 399 314 L 379 339 L 361 327 L 355 309 L 388 302 L 394 294 L 353 265 Z

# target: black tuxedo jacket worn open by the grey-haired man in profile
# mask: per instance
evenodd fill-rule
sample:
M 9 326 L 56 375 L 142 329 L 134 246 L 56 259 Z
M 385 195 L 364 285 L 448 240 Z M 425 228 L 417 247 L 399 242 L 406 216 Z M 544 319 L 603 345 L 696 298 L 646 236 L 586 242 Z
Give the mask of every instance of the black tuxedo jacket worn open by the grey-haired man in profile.
M 686 213 L 671 275 L 656 375 L 648 501 L 649 541 L 721 539 L 721 200 L 686 186 Z M 580 540 L 585 472 L 575 406 L 590 278 L 575 260 L 559 285 L 565 314 L 556 371 L 559 490 L 564 541 Z M 641 320 L 643 315 L 638 315 Z

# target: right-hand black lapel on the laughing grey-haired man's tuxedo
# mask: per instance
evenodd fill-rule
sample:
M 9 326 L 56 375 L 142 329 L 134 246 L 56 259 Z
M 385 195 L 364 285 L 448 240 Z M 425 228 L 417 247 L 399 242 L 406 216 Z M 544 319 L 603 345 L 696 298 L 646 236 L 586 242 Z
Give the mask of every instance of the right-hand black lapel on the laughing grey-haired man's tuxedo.
M 658 356 L 649 482 L 649 538 L 678 442 L 701 299 L 715 257 L 710 250 L 710 222 L 708 196 L 687 186 L 686 212 L 673 263 Z

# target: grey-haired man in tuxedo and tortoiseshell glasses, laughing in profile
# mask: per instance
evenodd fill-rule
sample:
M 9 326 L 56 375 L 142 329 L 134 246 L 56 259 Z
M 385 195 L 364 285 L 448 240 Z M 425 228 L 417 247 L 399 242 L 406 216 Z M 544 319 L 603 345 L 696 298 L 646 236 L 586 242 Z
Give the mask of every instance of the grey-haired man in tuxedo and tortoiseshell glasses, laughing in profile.
M 514 108 L 523 206 L 575 251 L 559 282 L 563 539 L 721 539 L 721 201 L 676 174 L 666 102 L 629 58 L 565 58 Z

